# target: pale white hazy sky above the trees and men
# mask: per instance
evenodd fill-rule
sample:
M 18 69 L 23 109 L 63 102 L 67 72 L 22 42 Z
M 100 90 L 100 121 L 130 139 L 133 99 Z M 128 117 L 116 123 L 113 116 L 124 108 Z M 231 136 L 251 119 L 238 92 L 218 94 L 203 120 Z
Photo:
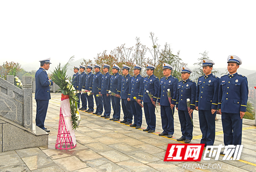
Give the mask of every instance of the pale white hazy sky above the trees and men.
M 255 6 L 246 0 L 0 0 L 0 64 L 37 69 L 39 60 L 51 57 L 53 69 L 73 55 L 93 59 L 121 44 L 132 47 L 135 37 L 151 48 L 154 32 L 158 44 L 167 42 L 174 54 L 180 50 L 188 66 L 208 51 L 217 68 L 236 55 L 242 68 L 255 69 Z

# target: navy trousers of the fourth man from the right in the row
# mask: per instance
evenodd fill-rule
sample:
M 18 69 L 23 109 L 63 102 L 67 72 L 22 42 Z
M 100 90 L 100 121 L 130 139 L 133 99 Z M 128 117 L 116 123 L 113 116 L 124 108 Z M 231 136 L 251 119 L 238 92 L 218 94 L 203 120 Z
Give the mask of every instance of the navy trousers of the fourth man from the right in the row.
M 175 106 L 171 109 L 171 106 L 160 106 L 161 108 L 161 120 L 163 133 L 172 134 L 174 133 L 174 122 L 173 115 Z M 173 112 L 173 113 L 172 113 Z

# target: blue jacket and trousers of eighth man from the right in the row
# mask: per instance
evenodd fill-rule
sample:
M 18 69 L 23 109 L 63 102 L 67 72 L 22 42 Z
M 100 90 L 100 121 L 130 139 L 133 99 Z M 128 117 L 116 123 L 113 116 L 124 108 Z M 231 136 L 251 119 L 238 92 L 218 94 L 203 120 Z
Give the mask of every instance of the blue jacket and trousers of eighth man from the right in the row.
M 110 78 L 110 91 L 120 95 L 121 81 L 122 81 L 122 75 L 120 75 L 119 73 L 112 75 Z M 111 96 L 111 102 L 112 102 L 112 107 L 114 111 L 113 118 L 120 119 L 120 112 L 121 112 L 120 98 Z

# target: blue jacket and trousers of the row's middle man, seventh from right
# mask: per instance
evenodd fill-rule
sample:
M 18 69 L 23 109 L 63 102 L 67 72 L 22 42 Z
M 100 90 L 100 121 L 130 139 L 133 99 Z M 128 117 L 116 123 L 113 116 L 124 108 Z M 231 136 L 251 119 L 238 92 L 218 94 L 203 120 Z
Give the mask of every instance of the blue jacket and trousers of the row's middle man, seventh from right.
M 121 82 L 121 102 L 122 102 L 122 109 L 124 113 L 124 121 L 132 123 L 132 107 L 131 107 L 131 101 L 128 101 L 128 92 L 129 88 L 131 86 L 131 78 L 132 76 L 130 74 L 127 74 L 126 76 L 122 77 Z

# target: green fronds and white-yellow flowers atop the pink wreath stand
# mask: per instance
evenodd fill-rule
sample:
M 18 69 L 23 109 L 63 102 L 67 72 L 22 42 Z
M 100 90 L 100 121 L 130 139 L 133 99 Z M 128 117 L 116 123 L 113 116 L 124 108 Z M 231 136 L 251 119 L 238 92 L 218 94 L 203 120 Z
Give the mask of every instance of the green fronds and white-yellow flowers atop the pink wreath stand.
M 74 56 L 72 56 L 69 59 L 68 63 L 66 63 L 62 68 L 59 64 L 52 72 L 51 79 L 53 82 L 55 82 L 55 84 L 60 87 L 59 90 L 62 94 L 69 96 L 72 126 L 75 130 L 76 128 L 78 128 L 79 122 L 81 120 L 79 112 L 77 111 L 78 97 L 76 96 L 76 89 L 74 88 L 73 84 L 69 82 L 71 80 L 71 77 L 68 77 L 66 75 L 68 66 L 70 65 L 69 62 L 72 62 L 73 59 Z

